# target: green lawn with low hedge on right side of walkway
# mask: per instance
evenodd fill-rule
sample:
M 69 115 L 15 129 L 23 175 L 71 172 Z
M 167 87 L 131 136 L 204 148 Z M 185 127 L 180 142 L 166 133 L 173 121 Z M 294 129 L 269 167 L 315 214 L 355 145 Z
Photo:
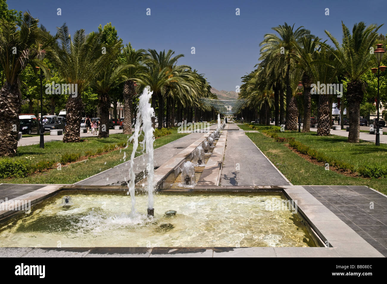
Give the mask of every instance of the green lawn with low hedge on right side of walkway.
M 285 135 L 295 137 L 296 140 L 299 139 L 302 143 L 312 144 L 315 143 L 317 146 L 322 146 L 326 153 L 333 153 L 343 157 L 343 150 L 345 149 L 355 149 L 356 153 L 348 157 L 353 162 L 360 163 L 360 158 L 356 158 L 357 155 L 362 155 L 362 157 L 368 157 L 369 153 L 373 153 L 375 156 L 375 150 L 372 150 L 372 146 L 368 145 L 371 149 L 366 153 L 361 153 L 361 151 L 366 150 L 366 145 L 360 143 L 361 145 L 349 144 L 343 142 L 343 139 L 340 136 L 332 137 L 318 137 L 312 134 L 298 134 L 298 133 L 279 133 L 279 136 L 285 137 Z M 324 166 L 319 166 L 312 164 L 305 160 L 304 158 L 298 156 L 296 153 L 293 153 L 289 148 L 284 146 L 284 143 L 275 142 L 274 139 L 264 136 L 261 133 L 246 133 L 246 135 L 257 145 L 260 150 L 271 160 L 271 162 L 289 179 L 292 184 L 295 185 L 364 185 L 369 186 L 370 188 L 376 189 L 384 194 L 387 194 L 387 179 L 368 179 L 362 177 L 348 177 L 331 170 L 325 170 Z M 303 136 L 303 137 L 301 137 Z M 321 140 L 319 141 L 320 138 Z M 330 143 L 325 143 L 325 142 Z M 323 144 L 323 145 L 322 145 Z M 344 145 L 345 144 L 345 145 Z M 317 148 L 320 149 L 320 148 Z M 385 149 L 385 147 L 383 148 Z M 322 150 L 322 149 L 321 149 Z M 347 152 L 348 153 L 348 152 Z M 382 150 L 382 153 L 385 154 L 385 150 Z M 377 158 L 370 158 L 373 162 L 377 162 Z M 368 160 L 368 158 L 367 158 Z

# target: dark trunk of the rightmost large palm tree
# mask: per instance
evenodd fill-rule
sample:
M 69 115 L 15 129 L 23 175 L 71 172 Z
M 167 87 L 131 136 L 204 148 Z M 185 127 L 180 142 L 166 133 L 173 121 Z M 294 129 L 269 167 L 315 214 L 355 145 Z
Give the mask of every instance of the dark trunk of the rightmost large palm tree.
M 351 81 L 347 86 L 349 113 L 349 143 L 359 143 L 360 139 L 360 103 L 363 100 L 363 85 L 359 81 Z

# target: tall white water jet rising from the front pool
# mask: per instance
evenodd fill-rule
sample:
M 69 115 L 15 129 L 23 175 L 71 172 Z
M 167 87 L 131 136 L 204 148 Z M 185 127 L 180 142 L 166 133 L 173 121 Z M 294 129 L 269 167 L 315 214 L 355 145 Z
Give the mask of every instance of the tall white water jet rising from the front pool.
M 137 119 L 134 126 L 134 133 L 130 136 L 129 140 L 133 141 L 133 151 L 130 155 L 130 182 L 128 184 L 128 189 L 130 193 L 130 198 L 132 200 L 132 210 L 130 216 L 134 217 L 135 215 L 135 174 L 134 174 L 134 156 L 139 145 L 139 136 L 141 131 L 144 131 L 144 139 L 140 144 L 142 149 L 146 149 L 147 153 L 147 191 L 148 191 L 148 216 L 154 216 L 153 208 L 153 180 L 154 180 L 154 166 L 153 166 L 153 142 L 154 129 L 152 127 L 152 117 L 154 117 L 154 110 L 149 103 L 153 92 L 150 91 L 150 87 L 146 86 L 142 95 L 140 96 L 139 106 L 137 108 Z M 140 126 L 142 124 L 142 128 Z

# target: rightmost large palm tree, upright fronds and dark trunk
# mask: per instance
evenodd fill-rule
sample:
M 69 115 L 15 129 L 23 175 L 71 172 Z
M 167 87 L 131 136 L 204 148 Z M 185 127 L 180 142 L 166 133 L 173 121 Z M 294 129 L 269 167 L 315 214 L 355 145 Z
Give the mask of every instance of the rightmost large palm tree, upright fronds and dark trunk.
M 360 132 L 360 103 L 364 97 L 365 83 L 361 76 L 374 64 L 370 53 L 378 39 L 378 29 L 381 26 L 371 24 L 366 26 L 364 22 L 354 24 L 352 34 L 342 22 L 342 45 L 325 31 L 333 42 L 336 50 L 329 46 L 334 55 L 334 60 L 340 64 L 340 71 L 349 79 L 347 85 L 347 100 L 349 111 L 348 142 L 358 143 Z

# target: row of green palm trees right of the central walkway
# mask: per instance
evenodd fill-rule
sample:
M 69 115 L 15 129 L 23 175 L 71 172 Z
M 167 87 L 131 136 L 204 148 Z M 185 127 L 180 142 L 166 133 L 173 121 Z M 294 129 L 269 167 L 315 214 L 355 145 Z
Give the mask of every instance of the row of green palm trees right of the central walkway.
M 375 24 L 366 26 L 364 22 L 359 22 L 353 26 L 351 33 L 342 23 L 342 44 L 325 31 L 332 42 L 329 45 L 303 26 L 295 29 L 294 25 L 285 23 L 274 27 L 272 29 L 276 33 L 265 34 L 260 43 L 261 62 L 250 74 L 242 77 L 239 96 L 248 98 L 248 107 L 260 110 L 267 123 L 274 104 L 276 125 L 286 122 L 288 130 L 297 129 L 298 109 L 302 104 L 303 132 L 309 132 L 312 84 L 339 83 L 339 78 L 345 78 L 348 81 L 345 93 L 349 114 L 348 141 L 358 143 L 360 103 L 365 90 L 362 77 L 375 65 L 375 57 L 370 50 L 380 41 L 379 28 Z M 299 81 L 303 93 L 298 88 Z M 318 95 L 318 135 L 330 134 L 330 106 L 334 97 L 336 94 Z

